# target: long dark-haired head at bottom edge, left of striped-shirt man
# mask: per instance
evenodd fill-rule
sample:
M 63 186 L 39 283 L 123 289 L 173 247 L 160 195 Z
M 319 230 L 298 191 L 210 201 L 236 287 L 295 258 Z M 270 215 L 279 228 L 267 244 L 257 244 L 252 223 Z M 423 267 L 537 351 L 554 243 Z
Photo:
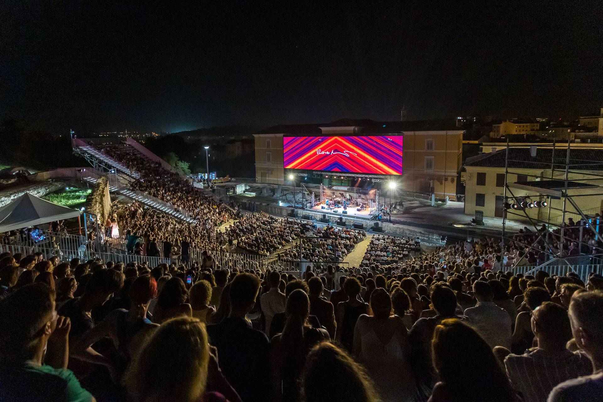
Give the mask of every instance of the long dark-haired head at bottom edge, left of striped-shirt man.
M 490 345 L 462 321 L 445 319 L 435 327 L 432 353 L 440 382 L 430 402 L 519 401 Z

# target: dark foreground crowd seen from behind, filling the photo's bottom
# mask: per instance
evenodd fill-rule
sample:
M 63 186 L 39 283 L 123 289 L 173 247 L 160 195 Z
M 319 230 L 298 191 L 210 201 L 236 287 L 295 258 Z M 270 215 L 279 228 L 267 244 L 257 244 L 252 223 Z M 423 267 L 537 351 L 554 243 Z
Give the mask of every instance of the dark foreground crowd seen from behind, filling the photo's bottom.
M 603 277 L 472 267 L 330 265 L 297 278 L 2 253 L 0 398 L 600 397 Z M 535 356 L 548 369 L 518 371 Z

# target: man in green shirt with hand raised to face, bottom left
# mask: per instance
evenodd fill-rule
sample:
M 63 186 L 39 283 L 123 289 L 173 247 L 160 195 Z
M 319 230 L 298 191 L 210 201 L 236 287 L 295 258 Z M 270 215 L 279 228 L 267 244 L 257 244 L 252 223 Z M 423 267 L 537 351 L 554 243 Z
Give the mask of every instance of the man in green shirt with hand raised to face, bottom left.
M 44 283 L 0 301 L 1 401 L 95 401 L 67 369 L 70 327 Z

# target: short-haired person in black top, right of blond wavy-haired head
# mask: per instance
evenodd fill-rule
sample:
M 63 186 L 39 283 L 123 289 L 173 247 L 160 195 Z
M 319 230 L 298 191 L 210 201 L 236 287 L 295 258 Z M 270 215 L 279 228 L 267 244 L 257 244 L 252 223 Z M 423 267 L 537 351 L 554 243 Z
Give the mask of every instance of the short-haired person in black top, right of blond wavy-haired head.
M 224 376 L 245 402 L 270 400 L 268 338 L 251 328 L 245 317 L 256 303 L 260 281 L 253 274 L 239 274 L 230 284 L 230 314 L 219 324 L 208 325 L 209 343 L 218 349 Z

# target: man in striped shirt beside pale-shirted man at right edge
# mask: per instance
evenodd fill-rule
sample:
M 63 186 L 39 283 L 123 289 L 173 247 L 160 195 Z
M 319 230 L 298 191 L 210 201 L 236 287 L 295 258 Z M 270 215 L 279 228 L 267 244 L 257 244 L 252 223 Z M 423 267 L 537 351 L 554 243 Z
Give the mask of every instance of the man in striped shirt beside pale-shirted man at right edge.
M 570 352 L 566 343 L 572 338 L 567 311 L 547 301 L 532 312 L 531 327 L 538 347 L 525 354 L 510 354 L 505 368 L 513 388 L 525 402 L 546 402 L 554 386 L 592 372 L 592 362 L 582 352 Z

